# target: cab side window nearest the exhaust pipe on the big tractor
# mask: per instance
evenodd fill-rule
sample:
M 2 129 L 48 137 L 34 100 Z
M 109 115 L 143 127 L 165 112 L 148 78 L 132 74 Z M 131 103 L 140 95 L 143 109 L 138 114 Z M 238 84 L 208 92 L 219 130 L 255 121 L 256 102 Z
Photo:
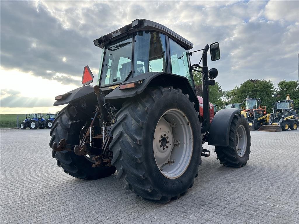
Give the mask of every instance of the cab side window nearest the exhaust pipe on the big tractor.
M 172 39 L 169 39 L 169 45 L 172 73 L 187 77 L 192 85 L 188 62 L 188 51 L 174 42 Z

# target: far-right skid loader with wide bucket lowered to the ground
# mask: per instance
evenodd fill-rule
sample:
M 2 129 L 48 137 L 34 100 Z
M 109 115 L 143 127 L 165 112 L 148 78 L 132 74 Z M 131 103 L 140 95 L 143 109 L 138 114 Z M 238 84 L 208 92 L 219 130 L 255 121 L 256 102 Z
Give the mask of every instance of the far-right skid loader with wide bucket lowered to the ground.
M 273 113 L 271 114 L 269 125 L 263 125 L 259 131 L 292 131 L 297 130 L 299 125 L 299 115 L 294 108 L 294 100 L 290 99 L 289 94 L 286 100 L 275 102 Z

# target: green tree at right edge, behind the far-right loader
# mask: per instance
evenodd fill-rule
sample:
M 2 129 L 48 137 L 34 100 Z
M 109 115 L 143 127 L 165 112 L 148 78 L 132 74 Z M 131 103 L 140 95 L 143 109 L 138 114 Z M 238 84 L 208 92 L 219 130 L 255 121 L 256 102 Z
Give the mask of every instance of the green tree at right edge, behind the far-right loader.
M 286 81 L 283 79 L 277 84 L 278 89 L 276 91 L 276 100 L 285 100 L 286 94 L 290 94 L 290 98 L 294 100 L 295 108 L 299 108 L 299 82 L 298 81 Z

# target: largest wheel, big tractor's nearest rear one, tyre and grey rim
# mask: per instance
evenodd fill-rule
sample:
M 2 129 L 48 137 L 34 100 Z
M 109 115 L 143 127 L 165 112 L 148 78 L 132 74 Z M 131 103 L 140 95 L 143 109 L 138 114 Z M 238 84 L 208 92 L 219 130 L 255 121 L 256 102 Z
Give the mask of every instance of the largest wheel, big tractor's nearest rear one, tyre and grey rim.
M 201 124 L 194 102 L 181 89 L 172 86 L 145 89 L 123 104 L 111 131 L 111 163 L 126 190 L 147 200 L 166 203 L 186 194 L 193 186 L 201 163 Z M 174 140 L 178 139 L 180 143 L 176 145 Z M 176 159 L 172 159 L 174 156 Z

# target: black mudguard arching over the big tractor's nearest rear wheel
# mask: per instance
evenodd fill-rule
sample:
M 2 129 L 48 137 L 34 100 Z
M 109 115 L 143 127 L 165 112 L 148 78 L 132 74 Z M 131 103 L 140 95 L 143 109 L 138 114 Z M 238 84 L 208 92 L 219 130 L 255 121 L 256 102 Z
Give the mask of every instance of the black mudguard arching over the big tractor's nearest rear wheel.
M 117 87 L 105 96 L 105 102 L 110 102 L 115 108 L 120 109 L 124 98 L 131 98 L 142 93 L 147 86 L 173 86 L 175 89 L 181 89 L 183 94 L 188 94 L 190 101 L 195 103 L 194 108 L 199 111 L 197 96 L 186 77 L 167 72 L 147 72 L 135 76 L 121 85 L 132 82 L 136 83 L 136 88 L 120 90 Z

